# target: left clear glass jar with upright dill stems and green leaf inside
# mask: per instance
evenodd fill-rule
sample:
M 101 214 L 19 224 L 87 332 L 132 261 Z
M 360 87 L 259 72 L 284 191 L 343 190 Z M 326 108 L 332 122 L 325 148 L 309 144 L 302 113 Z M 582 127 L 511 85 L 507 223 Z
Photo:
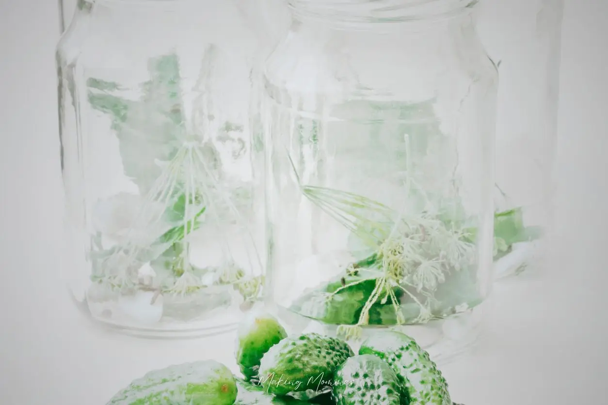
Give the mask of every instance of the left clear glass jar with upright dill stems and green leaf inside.
M 57 47 L 71 293 L 136 335 L 229 330 L 263 284 L 256 37 L 233 2 L 88 4 Z

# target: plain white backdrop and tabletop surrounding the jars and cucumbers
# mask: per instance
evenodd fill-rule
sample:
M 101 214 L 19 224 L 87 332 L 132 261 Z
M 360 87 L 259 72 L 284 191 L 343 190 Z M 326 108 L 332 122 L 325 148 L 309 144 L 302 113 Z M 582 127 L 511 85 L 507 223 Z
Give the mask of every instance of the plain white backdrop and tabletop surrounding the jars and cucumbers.
M 506 1 L 506 0 L 505 0 Z M 497 284 L 488 334 L 443 367 L 466 405 L 605 404 L 608 1 L 567 2 L 559 242 L 552 265 Z M 101 405 L 147 370 L 214 357 L 233 336 L 151 341 L 100 333 L 58 276 L 61 226 L 53 0 L 0 4 L 0 404 Z

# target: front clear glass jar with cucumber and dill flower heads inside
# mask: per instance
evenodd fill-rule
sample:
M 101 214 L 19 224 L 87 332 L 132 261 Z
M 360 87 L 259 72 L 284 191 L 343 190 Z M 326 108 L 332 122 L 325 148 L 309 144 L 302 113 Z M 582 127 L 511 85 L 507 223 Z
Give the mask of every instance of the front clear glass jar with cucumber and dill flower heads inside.
M 446 359 L 492 280 L 496 67 L 471 0 L 291 0 L 265 67 L 268 304 Z

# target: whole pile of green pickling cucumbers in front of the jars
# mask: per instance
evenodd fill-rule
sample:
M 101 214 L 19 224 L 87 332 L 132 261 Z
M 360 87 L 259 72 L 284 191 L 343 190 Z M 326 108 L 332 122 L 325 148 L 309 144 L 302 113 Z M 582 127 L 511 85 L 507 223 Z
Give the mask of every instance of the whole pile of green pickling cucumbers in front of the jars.
M 240 325 L 235 354 L 242 376 L 215 360 L 188 362 L 147 373 L 107 405 L 453 405 L 429 354 L 395 331 L 356 354 L 337 338 L 288 336 L 257 311 Z

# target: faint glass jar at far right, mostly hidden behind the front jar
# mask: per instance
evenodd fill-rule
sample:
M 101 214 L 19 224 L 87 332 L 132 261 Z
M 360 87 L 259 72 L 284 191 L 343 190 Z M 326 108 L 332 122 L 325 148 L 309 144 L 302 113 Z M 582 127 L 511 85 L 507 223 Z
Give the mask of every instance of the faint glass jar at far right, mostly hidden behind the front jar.
M 540 265 L 553 228 L 563 0 L 482 0 L 478 32 L 500 75 L 496 276 Z M 507 230 L 504 217 L 517 221 Z

